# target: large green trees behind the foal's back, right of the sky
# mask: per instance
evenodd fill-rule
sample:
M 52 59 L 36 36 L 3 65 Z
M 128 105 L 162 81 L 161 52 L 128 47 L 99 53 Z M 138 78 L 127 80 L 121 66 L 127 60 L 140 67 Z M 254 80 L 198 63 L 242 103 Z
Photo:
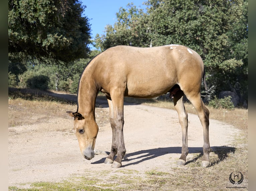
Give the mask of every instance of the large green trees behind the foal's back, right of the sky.
M 146 12 L 128 5 L 97 36 L 101 50 L 181 44 L 202 57 L 214 95 L 232 90 L 248 100 L 248 0 L 148 0 Z M 136 13 L 136 14 L 133 14 Z M 157 67 L 157 66 L 156 66 Z

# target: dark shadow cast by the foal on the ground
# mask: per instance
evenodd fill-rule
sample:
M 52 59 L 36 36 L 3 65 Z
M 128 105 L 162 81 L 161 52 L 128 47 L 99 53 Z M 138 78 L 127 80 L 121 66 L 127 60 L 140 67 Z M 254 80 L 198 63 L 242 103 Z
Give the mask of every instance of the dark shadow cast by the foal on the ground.
M 219 162 L 223 161 L 225 158 L 228 157 L 229 153 L 234 153 L 236 150 L 235 147 L 228 147 L 228 146 L 214 146 L 211 148 L 212 148 L 212 152 L 217 154 L 218 159 L 211 161 L 210 166 L 214 166 Z M 196 162 L 199 158 L 202 158 L 203 156 L 202 147 L 189 147 L 188 150 L 189 150 L 189 153 L 198 153 L 198 155 L 195 156 L 195 158 L 186 161 L 186 164 Z M 140 150 L 133 153 L 127 153 L 123 161 L 131 161 L 131 162 L 129 162 L 128 164 L 122 165 L 122 167 L 139 164 L 143 161 L 150 160 L 159 156 L 163 156 L 165 154 L 180 153 L 180 152 L 181 152 L 181 147 L 164 147 L 164 148 L 154 148 L 154 149 Z M 109 152 L 106 152 L 106 153 L 109 154 Z M 98 161 L 92 162 L 92 164 L 104 163 L 105 158 L 106 157 Z M 137 159 L 140 159 L 140 160 L 137 160 Z

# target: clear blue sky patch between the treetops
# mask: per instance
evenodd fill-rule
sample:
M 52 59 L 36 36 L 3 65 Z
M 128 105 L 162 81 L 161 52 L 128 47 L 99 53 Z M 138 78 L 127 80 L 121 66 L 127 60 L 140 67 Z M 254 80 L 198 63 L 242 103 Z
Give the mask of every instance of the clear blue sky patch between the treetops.
M 82 4 L 86 6 L 84 15 L 87 16 L 91 24 L 92 38 L 96 34 L 105 34 L 105 26 L 112 25 L 117 21 L 116 13 L 120 7 L 126 8 L 128 3 L 133 2 L 134 5 L 145 8 L 142 5 L 146 0 L 82 0 Z

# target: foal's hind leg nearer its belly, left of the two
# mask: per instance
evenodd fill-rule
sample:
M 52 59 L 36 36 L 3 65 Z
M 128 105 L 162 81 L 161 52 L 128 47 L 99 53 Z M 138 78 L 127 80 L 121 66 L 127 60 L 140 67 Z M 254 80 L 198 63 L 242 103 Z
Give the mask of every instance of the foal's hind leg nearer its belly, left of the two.
M 181 148 L 181 156 L 177 162 L 178 165 L 185 165 L 186 164 L 186 156 L 188 154 L 188 147 L 187 147 L 187 112 L 184 107 L 183 102 L 183 92 L 181 90 L 177 91 L 175 95 L 173 95 L 173 102 L 174 107 L 178 113 L 179 123 L 182 129 L 182 148 Z

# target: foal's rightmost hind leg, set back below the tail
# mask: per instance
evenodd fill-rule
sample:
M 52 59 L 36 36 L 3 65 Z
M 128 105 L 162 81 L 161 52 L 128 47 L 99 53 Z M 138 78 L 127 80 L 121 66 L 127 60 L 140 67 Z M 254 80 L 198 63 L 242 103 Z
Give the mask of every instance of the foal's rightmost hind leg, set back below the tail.
M 196 95 L 186 95 L 188 100 L 193 104 L 195 107 L 198 117 L 201 121 L 204 130 L 204 145 L 203 145 L 203 159 L 202 159 L 202 166 L 207 167 L 210 164 L 209 153 L 212 151 L 209 143 L 209 110 L 206 108 L 204 102 L 202 101 L 200 93 Z

